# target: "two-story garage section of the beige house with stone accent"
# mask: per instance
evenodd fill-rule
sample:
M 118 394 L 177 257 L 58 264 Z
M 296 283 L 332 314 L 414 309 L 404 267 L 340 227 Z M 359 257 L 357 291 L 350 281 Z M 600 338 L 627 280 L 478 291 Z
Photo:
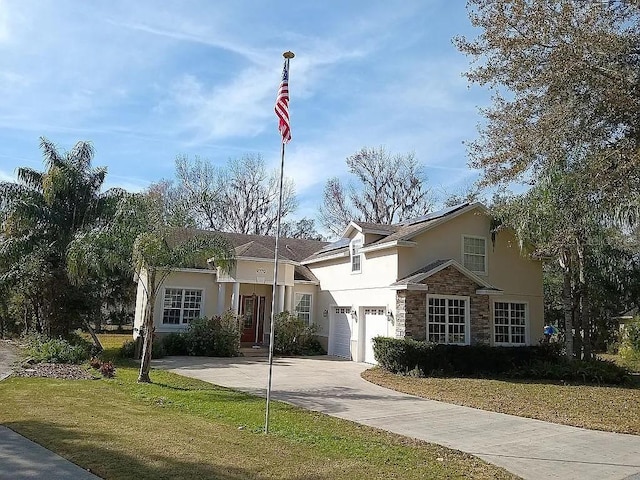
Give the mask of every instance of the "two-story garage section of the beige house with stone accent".
M 377 335 L 469 345 L 530 345 L 543 329 L 542 263 L 514 235 L 491 235 L 480 203 L 395 225 L 351 222 L 303 260 L 318 279 L 328 351 L 373 363 Z

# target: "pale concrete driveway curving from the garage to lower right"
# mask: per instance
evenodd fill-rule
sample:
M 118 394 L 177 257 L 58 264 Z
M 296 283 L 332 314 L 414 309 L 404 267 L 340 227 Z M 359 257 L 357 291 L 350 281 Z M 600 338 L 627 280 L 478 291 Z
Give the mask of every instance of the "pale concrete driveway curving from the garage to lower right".
M 169 357 L 154 366 L 265 395 L 265 358 Z M 640 480 L 640 436 L 485 412 L 370 384 L 370 365 L 331 357 L 274 362 L 272 398 L 476 455 L 525 479 Z

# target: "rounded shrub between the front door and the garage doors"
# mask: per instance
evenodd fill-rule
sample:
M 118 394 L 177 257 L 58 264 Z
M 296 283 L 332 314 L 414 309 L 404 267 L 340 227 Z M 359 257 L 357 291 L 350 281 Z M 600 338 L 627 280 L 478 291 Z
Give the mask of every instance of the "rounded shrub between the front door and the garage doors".
M 273 350 L 282 355 L 323 355 L 326 352 L 315 338 L 318 326 L 307 325 L 296 315 L 282 312 L 274 319 Z

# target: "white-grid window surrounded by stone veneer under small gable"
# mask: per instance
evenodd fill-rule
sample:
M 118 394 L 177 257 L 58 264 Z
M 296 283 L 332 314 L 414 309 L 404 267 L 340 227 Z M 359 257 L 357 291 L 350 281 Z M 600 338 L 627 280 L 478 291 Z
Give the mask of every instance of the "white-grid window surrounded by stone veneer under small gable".
M 468 344 L 468 297 L 427 297 L 427 340 L 435 343 Z

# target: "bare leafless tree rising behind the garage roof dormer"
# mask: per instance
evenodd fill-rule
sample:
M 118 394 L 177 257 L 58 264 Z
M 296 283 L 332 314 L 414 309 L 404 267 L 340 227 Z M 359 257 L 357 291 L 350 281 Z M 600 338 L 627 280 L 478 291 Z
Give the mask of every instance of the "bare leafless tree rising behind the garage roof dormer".
M 392 224 L 431 209 L 431 191 L 413 153 L 365 147 L 346 163 L 356 181 L 330 178 L 320 207 L 320 222 L 332 233 L 339 235 L 351 220 Z

